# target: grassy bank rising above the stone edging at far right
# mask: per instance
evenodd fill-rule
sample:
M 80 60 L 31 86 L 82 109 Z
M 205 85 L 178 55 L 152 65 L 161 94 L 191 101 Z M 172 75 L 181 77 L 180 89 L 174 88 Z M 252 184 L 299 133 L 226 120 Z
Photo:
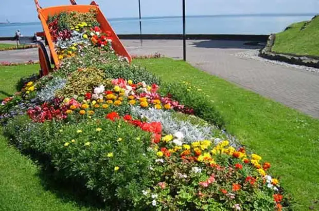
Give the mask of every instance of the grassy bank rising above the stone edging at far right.
M 290 29 L 276 34 L 272 50 L 280 53 L 319 56 L 319 16 L 304 30 L 300 30 L 304 23 L 292 24 Z

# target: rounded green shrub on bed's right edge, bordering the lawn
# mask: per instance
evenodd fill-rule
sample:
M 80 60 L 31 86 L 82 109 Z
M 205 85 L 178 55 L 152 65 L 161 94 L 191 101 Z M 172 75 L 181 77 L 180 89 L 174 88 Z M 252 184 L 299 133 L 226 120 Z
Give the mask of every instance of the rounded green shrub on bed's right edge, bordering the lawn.
M 163 95 L 171 94 L 174 100 L 194 109 L 194 114 L 203 120 L 222 128 L 224 121 L 215 106 L 203 92 L 189 89 L 183 83 L 162 84 L 160 92 Z

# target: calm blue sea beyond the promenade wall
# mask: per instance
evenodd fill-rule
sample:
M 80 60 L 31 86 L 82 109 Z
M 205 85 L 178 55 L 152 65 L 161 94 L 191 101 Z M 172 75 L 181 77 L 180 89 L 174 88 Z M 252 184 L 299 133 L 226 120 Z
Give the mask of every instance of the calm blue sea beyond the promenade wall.
M 187 16 L 187 34 L 270 34 L 285 29 L 294 22 L 307 21 L 315 14 L 236 14 Z M 139 34 L 139 18 L 110 18 L 117 34 Z M 0 37 L 14 36 L 17 29 L 22 35 L 43 31 L 40 22 L 0 24 Z M 182 34 L 183 19 L 180 16 L 143 17 L 143 34 Z

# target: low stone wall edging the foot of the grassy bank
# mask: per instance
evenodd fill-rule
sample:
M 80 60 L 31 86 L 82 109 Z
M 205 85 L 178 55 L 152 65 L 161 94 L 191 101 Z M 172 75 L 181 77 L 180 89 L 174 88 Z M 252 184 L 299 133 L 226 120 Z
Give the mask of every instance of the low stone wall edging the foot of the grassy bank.
M 286 62 L 293 65 L 303 65 L 307 67 L 319 68 L 319 59 L 309 56 L 289 55 L 272 52 L 275 44 L 276 34 L 271 34 L 268 38 L 267 45 L 259 51 L 259 56 L 269 60 Z

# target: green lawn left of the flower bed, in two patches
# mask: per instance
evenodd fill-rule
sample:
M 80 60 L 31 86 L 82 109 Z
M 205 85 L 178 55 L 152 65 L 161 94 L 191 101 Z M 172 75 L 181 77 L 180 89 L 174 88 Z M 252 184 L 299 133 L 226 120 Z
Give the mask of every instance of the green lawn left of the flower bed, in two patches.
M 16 91 L 15 82 L 22 76 L 38 69 L 38 65 L 0 66 L 0 99 Z M 90 210 L 53 190 L 37 165 L 8 145 L 0 131 L 0 210 Z

